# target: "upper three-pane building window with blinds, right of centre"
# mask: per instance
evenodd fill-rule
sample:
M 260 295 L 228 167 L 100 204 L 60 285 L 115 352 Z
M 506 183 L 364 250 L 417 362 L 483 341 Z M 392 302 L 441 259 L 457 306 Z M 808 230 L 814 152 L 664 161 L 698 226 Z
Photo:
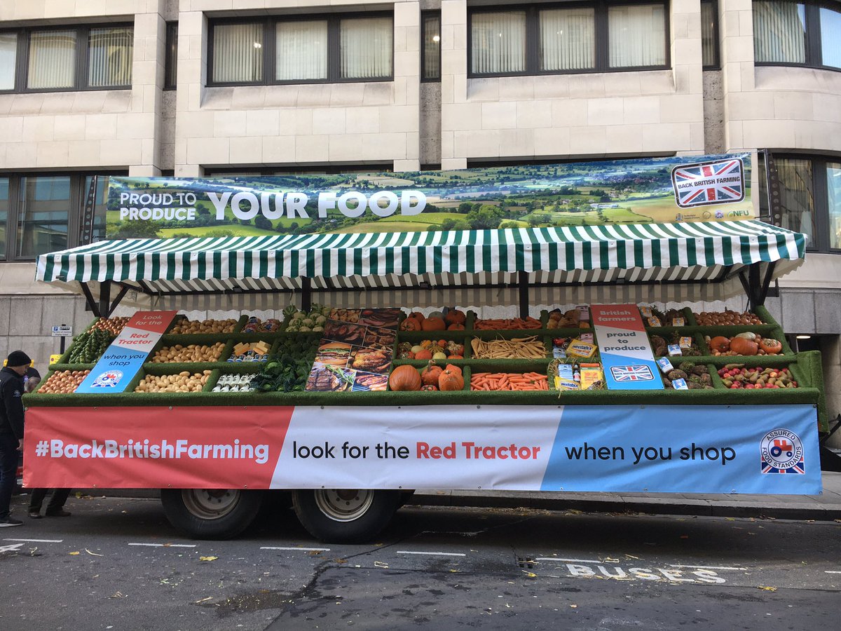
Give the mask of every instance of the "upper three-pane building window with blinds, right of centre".
M 469 13 L 472 77 L 665 68 L 666 3 L 477 8 Z

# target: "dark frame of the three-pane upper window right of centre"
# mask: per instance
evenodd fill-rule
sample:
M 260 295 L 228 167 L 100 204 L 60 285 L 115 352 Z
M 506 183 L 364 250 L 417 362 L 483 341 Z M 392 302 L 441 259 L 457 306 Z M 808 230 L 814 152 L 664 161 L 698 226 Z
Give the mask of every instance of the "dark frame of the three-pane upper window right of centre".
M 610 66 L 610 33 L 608 29 L 608 9 L 611 7 L 628 7 L 646 4 L 660 4 L 664 13 L 664 56 L 663 66 Z M 593 8 L 594 9 L 594 37 L 595 37 L 595 67 L 581 70 L 541 70 L 540 69 L 540 12 L 553 8 Z M 526 12 L 526 69 L 522 72 L 473 72 L 473 15 L 477 13 L 514 13 Z M 632 2 L 617 2 L 617 0 L 590 0 L 590 2 L 570 3 L 531 3 L 508 4 L 495 6 L 468 7 L 467 28 L 467 57 L 468 79 L 484 79 L 489 77 L 543 77 L 552 75 L 579 75 L 605 72 L 646 72 L 651 70 L 669 70 L 671 68 L 670 15 L 668 0 L 632 0 Z

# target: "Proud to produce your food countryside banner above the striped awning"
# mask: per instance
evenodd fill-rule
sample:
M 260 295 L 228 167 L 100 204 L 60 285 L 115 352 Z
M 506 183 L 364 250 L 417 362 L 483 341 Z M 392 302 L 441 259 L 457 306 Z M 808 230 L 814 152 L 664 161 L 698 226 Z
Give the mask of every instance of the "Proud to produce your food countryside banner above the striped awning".
M 751 154 L 209 178 L 109 178 L 107 235 L 265 236 L 753 219 Z

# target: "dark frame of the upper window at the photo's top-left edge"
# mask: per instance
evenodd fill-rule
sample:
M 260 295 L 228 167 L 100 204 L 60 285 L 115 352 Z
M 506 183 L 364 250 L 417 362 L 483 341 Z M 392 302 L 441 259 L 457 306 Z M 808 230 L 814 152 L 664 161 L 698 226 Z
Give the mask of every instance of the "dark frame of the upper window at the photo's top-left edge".
M 130 90 L 132 83 L 124 86 L 89 86 L 87 85 L 87 71 L 90 68 L 90 46 L 88 39 L 91 29 L 131 29 L 134 38 L 134 22 L 97 22 L 91 24 L 64 24 L 45 27 L 27 27 L 25 29 L 0 29 L 3 33 L 14 33 L 18 35 L 18 50 L 15 53 L 14 64 L 14 87 L 9 90 L 0 90 L 0 94 L 44 94 L 44 93 L 65 93 L 65 92 L 101 92 L 103 90 Z M 49 33 L 51 31 L 72 30 L 76 32 L 76 78 L 71 87 L 29 87 L 29 40 L 33 33 Z M 132 50 L 132 66 L 135 57 Z M 134 82 L 134 72 L 132 72 Z

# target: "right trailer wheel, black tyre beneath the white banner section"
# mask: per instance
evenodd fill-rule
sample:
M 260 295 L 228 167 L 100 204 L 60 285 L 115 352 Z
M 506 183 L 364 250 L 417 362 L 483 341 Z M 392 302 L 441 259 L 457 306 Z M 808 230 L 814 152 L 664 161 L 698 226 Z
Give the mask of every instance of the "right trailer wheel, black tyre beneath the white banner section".
M 356 544 L 375 537 L 400 506 L 398 490 L 302 489 L 292 492 L 299 522 L 315 538 Z

